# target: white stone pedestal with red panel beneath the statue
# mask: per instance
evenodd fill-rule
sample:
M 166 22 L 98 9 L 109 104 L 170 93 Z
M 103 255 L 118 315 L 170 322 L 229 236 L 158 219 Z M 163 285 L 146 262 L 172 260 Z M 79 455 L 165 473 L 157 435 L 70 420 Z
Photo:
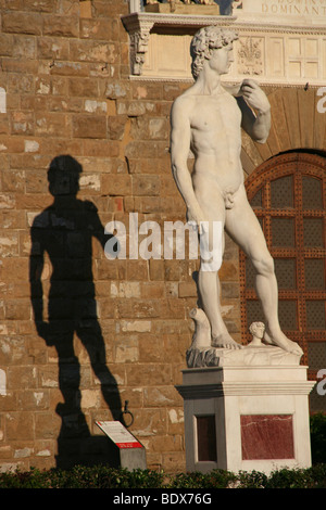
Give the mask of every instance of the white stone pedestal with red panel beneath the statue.
M 300 357 L 273 346 L 215 350 L 215 367 L 184 370 L 177 386 L 187 470 L 310 467 L 308 396 L 315 383 Z

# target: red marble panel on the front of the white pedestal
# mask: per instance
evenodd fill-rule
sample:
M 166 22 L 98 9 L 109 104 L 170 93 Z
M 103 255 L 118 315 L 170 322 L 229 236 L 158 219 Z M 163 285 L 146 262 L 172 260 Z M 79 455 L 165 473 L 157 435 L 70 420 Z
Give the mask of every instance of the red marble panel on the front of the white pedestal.
M 292 415 L 241 416 L 242 460 L 293 459 Z

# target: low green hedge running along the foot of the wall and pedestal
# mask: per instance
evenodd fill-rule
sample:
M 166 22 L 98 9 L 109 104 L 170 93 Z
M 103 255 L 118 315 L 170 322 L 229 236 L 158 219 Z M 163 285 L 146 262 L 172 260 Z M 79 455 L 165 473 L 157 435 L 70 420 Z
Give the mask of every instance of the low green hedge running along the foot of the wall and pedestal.
M 0 488 L 326 488 L 326 464 L 308 469 L 283 469 L 269 476 L 264 473 L 238 474 L 214 470 L 208 474 L 168 475 L 151 470 L 92 468 L 76 466 L 64 471 L 51 469 L 0 473 Z

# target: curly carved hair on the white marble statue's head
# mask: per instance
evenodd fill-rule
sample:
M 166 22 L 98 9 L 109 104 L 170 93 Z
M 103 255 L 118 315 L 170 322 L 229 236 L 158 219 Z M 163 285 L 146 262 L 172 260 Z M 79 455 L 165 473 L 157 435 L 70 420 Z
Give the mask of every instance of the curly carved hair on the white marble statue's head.
M 190 44 L 192 59 L 191 73 L 193 78 L 198 78 L 203 68 L 204 61 L 211 59 L 214 50 L 228 46 L 237 39 L 238 35 L 229 28 L 221 28 L 212 25 L 198 30 Z

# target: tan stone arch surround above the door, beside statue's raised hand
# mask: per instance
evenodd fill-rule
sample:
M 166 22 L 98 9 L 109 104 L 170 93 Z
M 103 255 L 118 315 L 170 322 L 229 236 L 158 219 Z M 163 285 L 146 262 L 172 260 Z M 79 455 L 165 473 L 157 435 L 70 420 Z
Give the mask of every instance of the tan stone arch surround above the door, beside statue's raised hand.
M 242 132 L 241 160 L 248 177 L 265 161 L 289 151 L 325 151 L 326 113 L 317 111 L 318 88 L 264 88 L 271 103 L 272 125 L 266 143 Z

